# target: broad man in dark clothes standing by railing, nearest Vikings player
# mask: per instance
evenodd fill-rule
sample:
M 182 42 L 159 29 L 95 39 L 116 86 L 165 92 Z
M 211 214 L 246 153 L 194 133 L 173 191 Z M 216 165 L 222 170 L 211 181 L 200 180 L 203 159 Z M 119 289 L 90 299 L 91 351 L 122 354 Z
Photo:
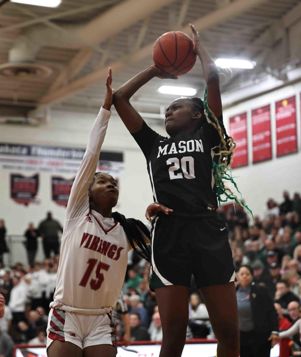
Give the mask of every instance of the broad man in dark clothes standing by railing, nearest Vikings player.
M 38 231 L 43 238 L 43 248 L 45 257 L 49 258 L 51 251 L 59 253 L 58 231 L 63 232 L 61 224 L 52 219 L 52 213 L 47 212 L 47 218 L 40 222 Z

